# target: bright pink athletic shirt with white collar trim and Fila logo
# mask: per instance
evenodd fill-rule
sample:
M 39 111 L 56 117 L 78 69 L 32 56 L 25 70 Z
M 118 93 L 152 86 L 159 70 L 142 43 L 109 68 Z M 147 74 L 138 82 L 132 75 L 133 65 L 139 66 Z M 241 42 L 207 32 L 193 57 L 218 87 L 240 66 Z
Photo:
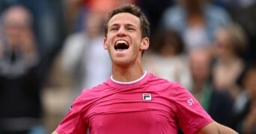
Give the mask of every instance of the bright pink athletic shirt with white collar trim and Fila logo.
M 210 124 L 213 119 L 179 83 L 150 73 L 131 83 L 109 78 L 83 90 L 61 121 L 57 132 L 85 134 L 172 134 Z

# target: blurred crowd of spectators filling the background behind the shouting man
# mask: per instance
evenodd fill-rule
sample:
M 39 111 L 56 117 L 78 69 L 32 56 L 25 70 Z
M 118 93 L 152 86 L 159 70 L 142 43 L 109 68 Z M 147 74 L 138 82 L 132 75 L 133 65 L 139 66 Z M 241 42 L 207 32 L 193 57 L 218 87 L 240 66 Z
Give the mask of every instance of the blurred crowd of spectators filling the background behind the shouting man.
M 103 26 L 125 3 L 150 21 L 145 70 L 256 133 L 255 0 L 1 0 L 0 134 L 52 132 L 82 89 L 111 75 Z

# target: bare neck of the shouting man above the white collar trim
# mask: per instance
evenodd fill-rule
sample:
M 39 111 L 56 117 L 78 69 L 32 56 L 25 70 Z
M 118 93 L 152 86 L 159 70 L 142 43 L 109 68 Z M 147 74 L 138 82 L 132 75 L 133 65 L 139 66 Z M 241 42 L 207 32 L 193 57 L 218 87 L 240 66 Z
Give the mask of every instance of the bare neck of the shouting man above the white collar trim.
M 144 70 L 141 63 L 127 66 L 126 68 L 112 64 L 112 77 L 121 82 L 130 82 L 142 77 Z

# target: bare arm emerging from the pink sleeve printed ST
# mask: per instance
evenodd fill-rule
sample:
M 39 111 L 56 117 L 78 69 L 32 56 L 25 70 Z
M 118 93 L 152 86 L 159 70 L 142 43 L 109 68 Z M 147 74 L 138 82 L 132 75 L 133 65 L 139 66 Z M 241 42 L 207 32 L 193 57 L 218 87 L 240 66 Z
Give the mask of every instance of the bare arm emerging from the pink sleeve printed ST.
M 222 133 L 228 133 L 228 134 L 237 134 L 236 131 L 232 130 L 229 127 L 225 127 L 222 124 L 217 123 L 216 121 L 213 121 L 210 124 L 207 124 L 207 126 L 201 128 L 195 134 L 207 134 L 207 133 L 216 133 L 216 134 L 222 134 Z

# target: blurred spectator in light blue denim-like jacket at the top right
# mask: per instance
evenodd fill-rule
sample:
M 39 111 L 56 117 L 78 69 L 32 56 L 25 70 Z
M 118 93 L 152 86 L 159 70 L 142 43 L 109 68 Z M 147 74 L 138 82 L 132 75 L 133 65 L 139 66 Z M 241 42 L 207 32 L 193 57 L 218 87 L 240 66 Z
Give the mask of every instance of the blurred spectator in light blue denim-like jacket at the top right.
M 213 47 L 214 32 L 227 22 L 228 13 L 207 0 L 180 0 L 162 16 L 164 28 L 181 33 L 186 51 Z

